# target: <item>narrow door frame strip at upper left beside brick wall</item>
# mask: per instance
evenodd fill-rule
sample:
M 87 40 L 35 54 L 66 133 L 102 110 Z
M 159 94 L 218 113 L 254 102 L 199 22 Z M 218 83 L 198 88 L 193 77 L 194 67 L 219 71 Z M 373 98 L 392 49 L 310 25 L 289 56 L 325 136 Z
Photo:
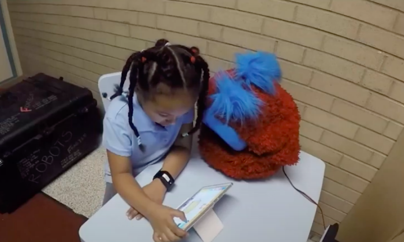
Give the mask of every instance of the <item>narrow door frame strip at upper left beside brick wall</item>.
M 22 75 L 20 59 L 18 56 L 17 46 L 14 40 L 14 33 L 11 26 L 11 19 L 7 0 L 0 0 L 0 29 L 2 30 L 2 37 L 6 45 L 6 51 L 9 58 L 9 63 L 13 76 L 6 80 L 0 80 L 0 83 L 6 83 Z

